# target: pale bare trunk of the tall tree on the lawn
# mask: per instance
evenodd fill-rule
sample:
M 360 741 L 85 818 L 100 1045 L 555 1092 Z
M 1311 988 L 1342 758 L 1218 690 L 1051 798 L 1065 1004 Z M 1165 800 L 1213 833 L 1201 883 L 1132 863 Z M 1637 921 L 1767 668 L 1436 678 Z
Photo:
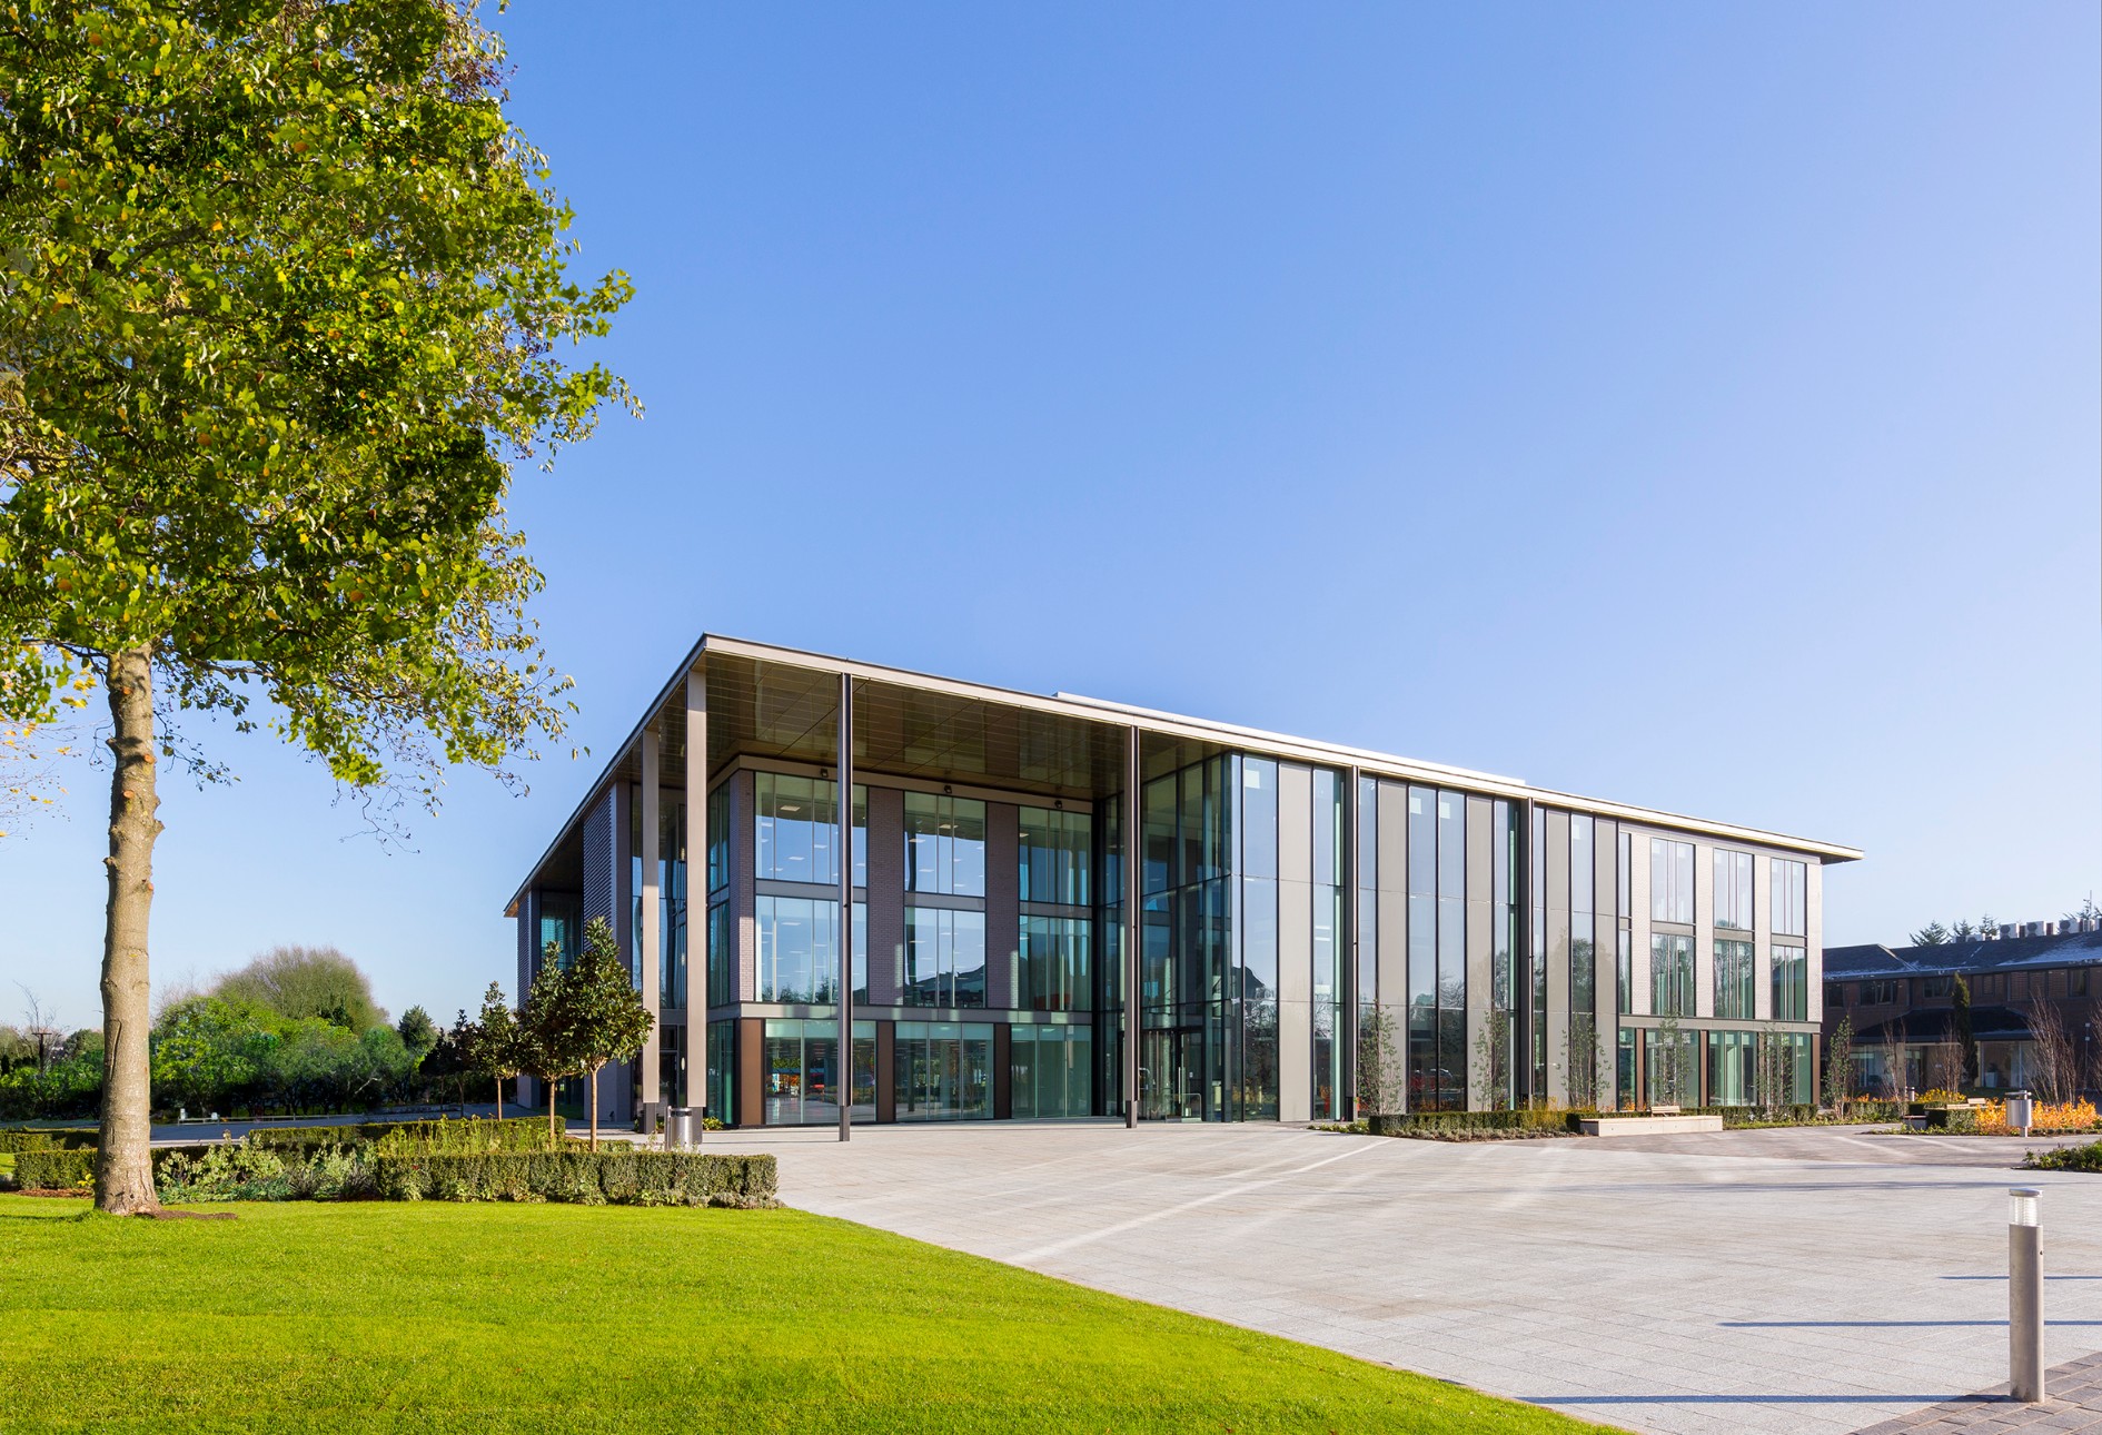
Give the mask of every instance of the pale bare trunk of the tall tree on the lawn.
M 153 906 L 153 653 L 130 647 L 105 666 L 109 719 L 109 903 L 103 910 L 103 1111 L 95 1208 L 116 1216 L 160 1210 L 153 1191 L 153 1107 L 147 1030 L 147 916 Z

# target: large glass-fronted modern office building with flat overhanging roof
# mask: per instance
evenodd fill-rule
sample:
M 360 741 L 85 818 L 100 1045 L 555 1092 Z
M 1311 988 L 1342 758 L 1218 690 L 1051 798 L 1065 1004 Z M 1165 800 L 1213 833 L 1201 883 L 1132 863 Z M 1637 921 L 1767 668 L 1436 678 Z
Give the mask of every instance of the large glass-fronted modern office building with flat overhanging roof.
M 519 992 L 591 918 L 631 954 L 660 1021 L 614 1120 L 1719 1105 L 1816 1088 L 1822 868 L 1858 855 L 704 637 L 507 914 Z

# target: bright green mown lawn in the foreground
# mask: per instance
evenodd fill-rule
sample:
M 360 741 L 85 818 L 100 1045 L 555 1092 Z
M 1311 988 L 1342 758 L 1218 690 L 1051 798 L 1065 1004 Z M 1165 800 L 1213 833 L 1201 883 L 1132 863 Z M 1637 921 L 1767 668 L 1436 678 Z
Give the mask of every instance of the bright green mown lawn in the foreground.
M 1581 1431 L 795 1210 L 0 1195 L 0 1429 Z

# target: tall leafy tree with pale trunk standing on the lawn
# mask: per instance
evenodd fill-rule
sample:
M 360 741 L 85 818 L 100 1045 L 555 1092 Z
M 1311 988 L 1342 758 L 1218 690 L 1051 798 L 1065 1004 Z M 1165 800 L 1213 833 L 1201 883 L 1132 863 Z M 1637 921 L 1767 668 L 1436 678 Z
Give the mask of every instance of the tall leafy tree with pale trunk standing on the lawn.
M 156 1210 L 147 922 L 174 710 L 265 727 L 389 830 L 507 775 L 568 681 L 511 464 L 633 401 L 570 340 L 570 210 L 469 0 L 0 11 L 0 719 L 109 704 L 97 1204 Z M 261 702 L 261 706 L 256 706 Z

